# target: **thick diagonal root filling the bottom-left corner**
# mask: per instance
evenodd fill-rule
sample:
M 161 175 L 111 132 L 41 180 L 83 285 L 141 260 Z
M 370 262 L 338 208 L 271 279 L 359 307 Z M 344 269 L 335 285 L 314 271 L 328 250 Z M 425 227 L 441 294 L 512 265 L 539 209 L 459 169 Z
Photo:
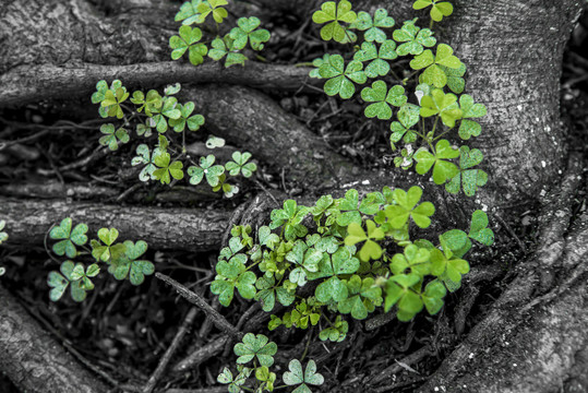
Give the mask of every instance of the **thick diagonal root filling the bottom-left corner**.
M 0 370 L 27 392 L 107 392 L 0 285 Z

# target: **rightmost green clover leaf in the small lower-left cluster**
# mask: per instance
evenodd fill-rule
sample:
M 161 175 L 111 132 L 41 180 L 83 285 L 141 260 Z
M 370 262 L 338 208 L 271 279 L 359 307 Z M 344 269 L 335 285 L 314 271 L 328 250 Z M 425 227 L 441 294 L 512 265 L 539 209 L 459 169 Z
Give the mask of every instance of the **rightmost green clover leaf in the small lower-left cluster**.
M 136 243 L 124 240 L 123 245 L 125 248 L 123 258 L 115 261 L 108 267 L 108 272 L 117 279 L 129 277 L 131 284 L 141 285 L 145 281 L 145 275 L 151 275 L 155 272 L 155 266 L 152 262 L 137 261 L 147 251 L 147 243 L 143 240 L 139 240 Z

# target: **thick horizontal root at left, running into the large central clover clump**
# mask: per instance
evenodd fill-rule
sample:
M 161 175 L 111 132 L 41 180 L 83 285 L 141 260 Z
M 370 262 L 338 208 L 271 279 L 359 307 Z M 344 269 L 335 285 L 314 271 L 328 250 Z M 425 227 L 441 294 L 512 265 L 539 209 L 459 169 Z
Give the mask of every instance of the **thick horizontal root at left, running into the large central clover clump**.
M 7 222 L 11 245 L 41 246 L 52 225 L 72 217 L 93 230 L 116 227 L 121 238 L 143 239 L 153 249 L 207 251 L 220 246 L 229 213 L 0 198 L 0 217 Z

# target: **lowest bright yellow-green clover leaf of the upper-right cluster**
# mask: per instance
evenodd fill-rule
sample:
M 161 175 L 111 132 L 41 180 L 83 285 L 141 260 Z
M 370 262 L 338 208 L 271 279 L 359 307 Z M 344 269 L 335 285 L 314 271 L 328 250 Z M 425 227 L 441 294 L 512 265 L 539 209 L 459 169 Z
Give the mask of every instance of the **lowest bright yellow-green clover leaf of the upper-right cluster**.
M 424 175 L 433 167 L 433 181 L 435 184 L 443 184 L 445 181 L 455 177 L 459 169 L 454 163 L 446 159 L 457 158 L 459 150 L 453 148 L 449 141 L 441 140 L 435 145 L 435 154 L 429 153 L 427 150 L 419 150 L 415 154 L 417 164 L 417 174 Z

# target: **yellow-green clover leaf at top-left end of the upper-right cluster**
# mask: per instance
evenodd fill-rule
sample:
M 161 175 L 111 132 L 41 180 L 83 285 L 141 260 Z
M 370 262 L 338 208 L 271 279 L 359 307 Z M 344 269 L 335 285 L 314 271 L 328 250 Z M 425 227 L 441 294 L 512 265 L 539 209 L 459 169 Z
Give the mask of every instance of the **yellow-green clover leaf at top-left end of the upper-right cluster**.
M 351 3 L 348 0 L 340 0 L 338 4 L 335 1 L 327 1 L 321 5 L 321 10 L 312 14 L 312 21 L 316 24 L 327 23 L 321 28 L 321 38 L 324 40 L 334 39 L 337 43 L 345 43 L 347 29 L 341 22 L 352 23 L 358 15 L 351 11 Z

